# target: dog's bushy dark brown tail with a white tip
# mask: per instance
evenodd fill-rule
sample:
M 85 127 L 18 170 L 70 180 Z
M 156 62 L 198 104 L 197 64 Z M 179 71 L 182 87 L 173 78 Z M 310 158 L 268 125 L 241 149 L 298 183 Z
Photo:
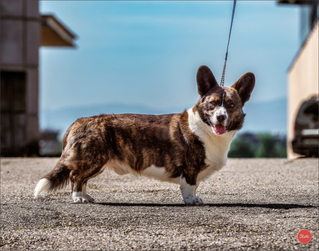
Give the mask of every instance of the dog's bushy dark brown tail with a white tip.
M 41 192 L 56 191 L 67 186 L 69 174 L 70 169 L 59 161 L 53 170 L 38 182 L 34 189 L 34 198 L 39 196 Z

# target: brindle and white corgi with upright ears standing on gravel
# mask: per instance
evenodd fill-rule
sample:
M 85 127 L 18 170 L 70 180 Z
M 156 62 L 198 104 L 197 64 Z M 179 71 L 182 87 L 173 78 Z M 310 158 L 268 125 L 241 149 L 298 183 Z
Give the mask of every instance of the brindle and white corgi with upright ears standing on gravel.
M 100 114 L 75 121 L 63 136 L 61 158 L 37 183 L 34 197 L 71 181 L 74 203 L 93 202 L 87 181 L 110 169 L 180 184 L 186 205 L 203 204 L 198 185 L 225 166 L 255 75 L 247 72 L 227 88 L 201 66 L 196 79 L 200 99 L 182 113 Z

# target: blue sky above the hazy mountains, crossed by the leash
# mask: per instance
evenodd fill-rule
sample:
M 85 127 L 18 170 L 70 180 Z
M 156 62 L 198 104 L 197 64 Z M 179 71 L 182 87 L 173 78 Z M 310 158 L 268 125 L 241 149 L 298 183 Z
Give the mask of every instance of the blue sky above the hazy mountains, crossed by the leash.
M 200 65 L 220 81 L 232 7 L 233 1 L 41 1 L 41 13 L 54 13 L 78 39 L 75 49 L 40 49 L 40 109 L 191 107 Z M 285 98 L 298 21 L 296 7 L 237 1 L 225 86 L 252 71 L 252 102 Z

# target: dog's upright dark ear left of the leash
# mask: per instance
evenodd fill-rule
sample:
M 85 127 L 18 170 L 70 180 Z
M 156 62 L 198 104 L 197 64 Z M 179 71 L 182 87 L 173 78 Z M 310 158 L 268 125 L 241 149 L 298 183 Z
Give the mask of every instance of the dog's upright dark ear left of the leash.
M 201 96 L 204 96 L 211 88 L 218 86 L 213 73 L 206 65 L 202 65 L 198 68 L 196 80 L 197 92 Z

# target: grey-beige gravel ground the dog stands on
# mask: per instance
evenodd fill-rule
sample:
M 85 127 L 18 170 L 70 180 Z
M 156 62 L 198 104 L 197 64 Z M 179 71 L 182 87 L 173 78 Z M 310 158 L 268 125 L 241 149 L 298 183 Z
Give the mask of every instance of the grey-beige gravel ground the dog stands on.
M 105 171 L 33 199 L 57 158 L 1 158 L 1 250 L 318 250 L 318 159 L 229 159 L 185 206 L 178 185 Z M 297 233 L 313 237 L 300 244 Z

